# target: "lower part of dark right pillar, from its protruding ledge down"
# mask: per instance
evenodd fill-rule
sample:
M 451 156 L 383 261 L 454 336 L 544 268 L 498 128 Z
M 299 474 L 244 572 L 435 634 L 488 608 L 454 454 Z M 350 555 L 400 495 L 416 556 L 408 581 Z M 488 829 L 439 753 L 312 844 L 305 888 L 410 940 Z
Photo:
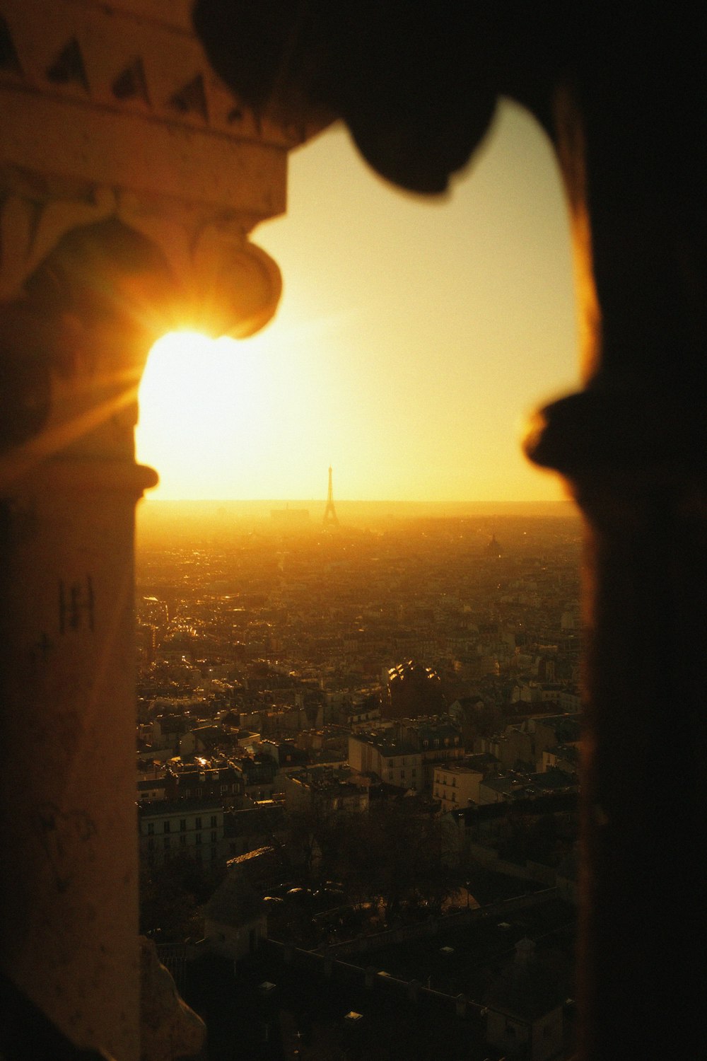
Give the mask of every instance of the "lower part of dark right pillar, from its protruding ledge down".
M 701 428 L 667 404 L 565 399 L 535 452 L 563 467 L 587 521 L 578 972 L 591 1061 L 664 1057 L 677 1027 L 699 1051 L 707 492 L 690 468 L 704 441 L 678 453 Z

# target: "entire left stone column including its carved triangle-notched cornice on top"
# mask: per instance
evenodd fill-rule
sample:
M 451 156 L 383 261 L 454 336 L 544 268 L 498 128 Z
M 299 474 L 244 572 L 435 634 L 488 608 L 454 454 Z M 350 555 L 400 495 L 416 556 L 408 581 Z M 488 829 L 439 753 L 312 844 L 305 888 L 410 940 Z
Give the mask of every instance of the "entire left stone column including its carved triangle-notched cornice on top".
M 209 70 L 189 0 L 0 0 L 2 972 L 137 1061 L 134 509 L 149 346 L 247 335 L 300 132 Z

